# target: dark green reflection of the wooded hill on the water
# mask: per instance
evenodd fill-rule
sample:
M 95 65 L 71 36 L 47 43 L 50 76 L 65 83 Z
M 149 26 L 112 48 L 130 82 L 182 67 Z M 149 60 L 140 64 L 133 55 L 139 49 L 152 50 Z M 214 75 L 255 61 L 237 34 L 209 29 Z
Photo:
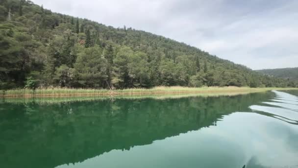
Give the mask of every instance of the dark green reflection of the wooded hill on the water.
M 273 93 L 0 106 L 0 167 L 53 168 L 215 125 Z M 17 162 L 16 162 L 17 161 Z

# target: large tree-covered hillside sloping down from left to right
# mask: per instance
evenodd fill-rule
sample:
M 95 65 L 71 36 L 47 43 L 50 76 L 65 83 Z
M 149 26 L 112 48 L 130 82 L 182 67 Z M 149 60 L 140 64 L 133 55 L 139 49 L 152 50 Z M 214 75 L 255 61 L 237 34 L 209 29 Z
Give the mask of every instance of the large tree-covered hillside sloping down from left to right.
M 1 0 L 0 11 L 0 89 L 297 86 L 169 38 L 53 13 L 28 0 Z

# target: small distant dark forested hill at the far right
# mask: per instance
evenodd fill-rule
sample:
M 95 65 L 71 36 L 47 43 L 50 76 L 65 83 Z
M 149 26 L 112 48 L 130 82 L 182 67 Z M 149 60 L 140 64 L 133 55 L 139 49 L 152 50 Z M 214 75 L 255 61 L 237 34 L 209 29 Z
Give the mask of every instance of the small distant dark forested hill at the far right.
M 274 76 L 277 78 L 298 80 L 298 67 L 297 68 L 280 68 L 280 69 L 263 69 L 257 70 L 265 75 Z

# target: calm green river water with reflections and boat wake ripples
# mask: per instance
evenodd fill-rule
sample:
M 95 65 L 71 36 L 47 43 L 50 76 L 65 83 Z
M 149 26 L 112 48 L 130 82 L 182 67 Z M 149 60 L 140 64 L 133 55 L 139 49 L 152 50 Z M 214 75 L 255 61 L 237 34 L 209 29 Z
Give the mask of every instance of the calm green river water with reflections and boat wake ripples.
M 0 168 L 298 168 L 298 92 L 0 103 Z

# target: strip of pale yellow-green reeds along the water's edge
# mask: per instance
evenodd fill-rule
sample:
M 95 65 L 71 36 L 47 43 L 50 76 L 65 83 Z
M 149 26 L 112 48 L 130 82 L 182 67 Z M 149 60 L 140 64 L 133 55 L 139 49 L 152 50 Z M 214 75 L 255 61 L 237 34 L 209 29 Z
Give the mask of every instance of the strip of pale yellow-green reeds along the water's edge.
M 175 94 L 175 93 L 251 93 L 267 90 L 292 90 L 298 88 L 276 88 L 276 87 L 181 87 L 181 86 L 158 86 L 150 89 L 130 88 L 130 89 L 75 89 L 75 88 L 38 88 L 32 89 L 11 89 L 1 91 L 1 97 L 50 97 L 50 96 L 89 96 L 89 95 L 142 95 L 142 94 Z

